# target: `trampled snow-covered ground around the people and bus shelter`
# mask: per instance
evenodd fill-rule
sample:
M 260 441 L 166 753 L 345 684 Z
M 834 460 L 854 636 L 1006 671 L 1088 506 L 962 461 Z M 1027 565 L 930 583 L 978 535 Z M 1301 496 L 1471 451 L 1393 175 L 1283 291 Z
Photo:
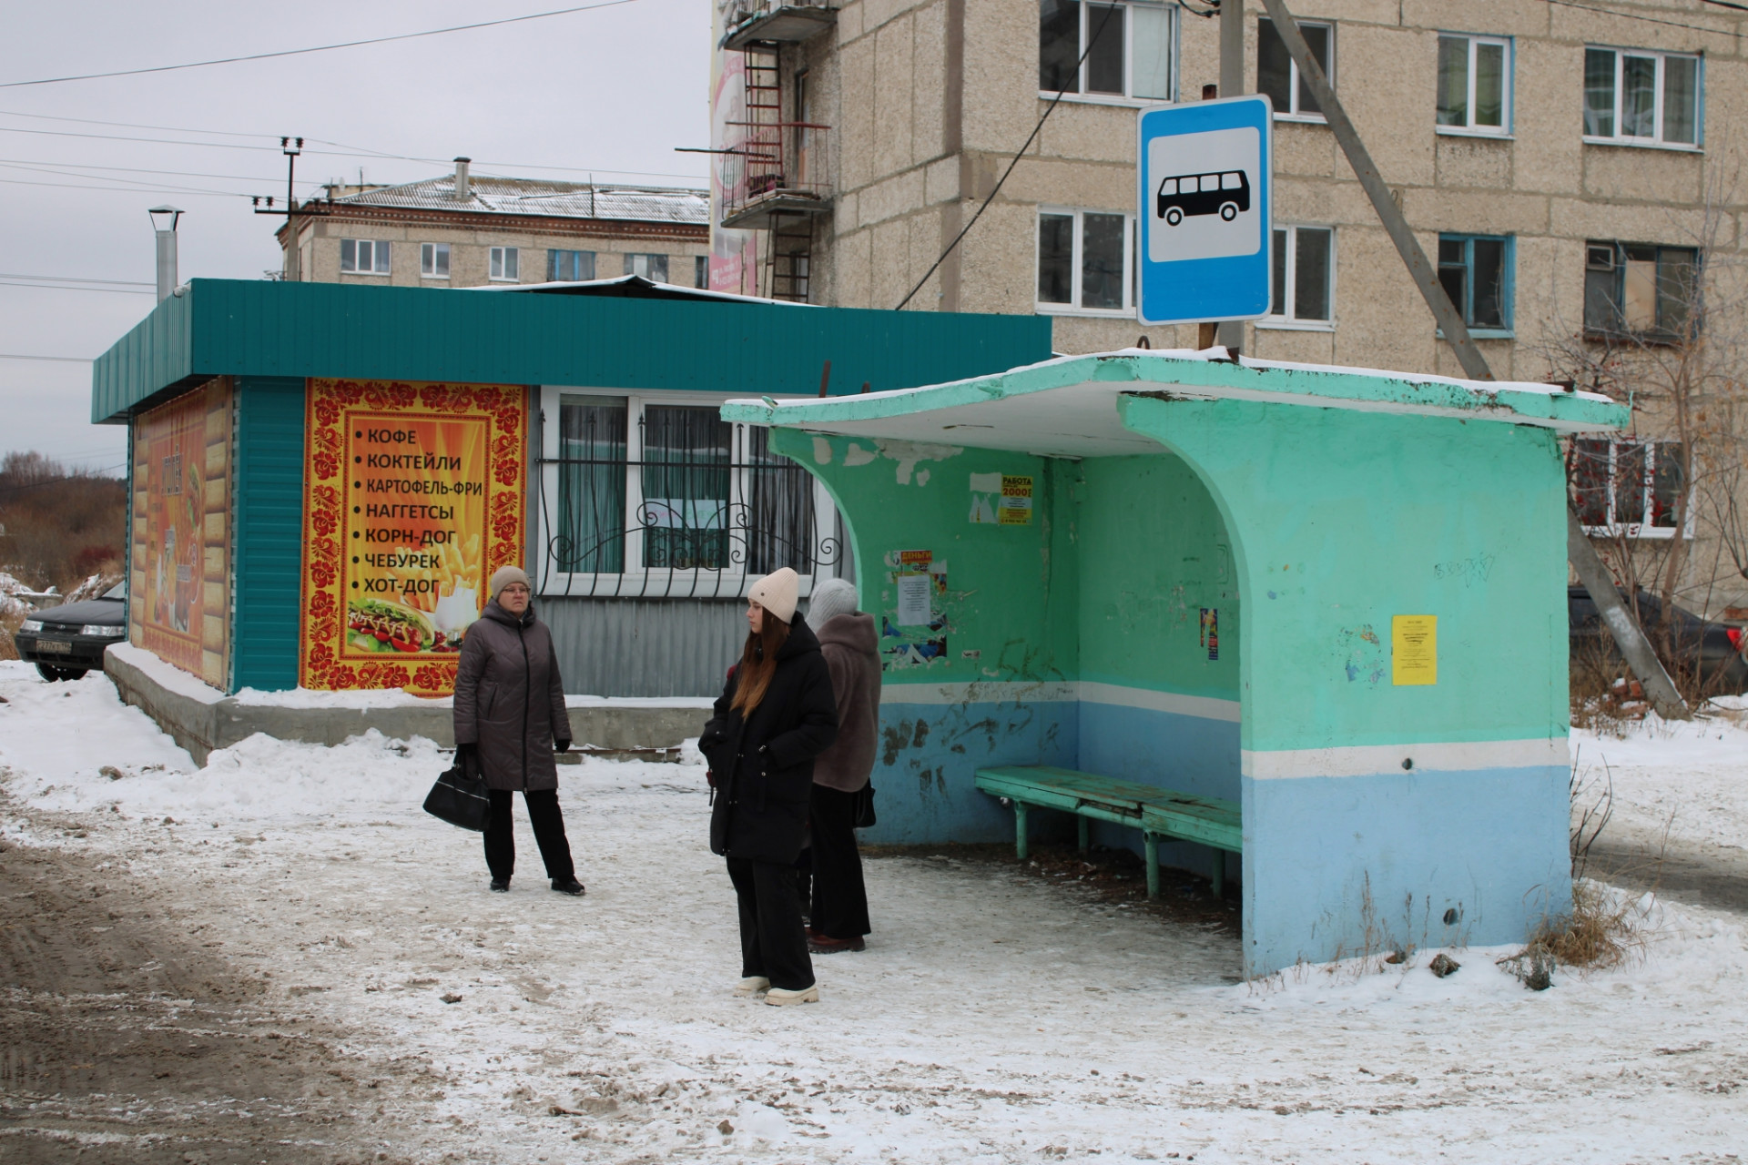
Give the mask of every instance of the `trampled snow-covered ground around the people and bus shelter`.
M 101 676 L 45 685 L 0 664 L 0 697 L 3 840 L 173 887 L 191 933 L 350 1050 L 428 1065 L 427 1107 L 381 1125 L 413 1160 L 1725 1162 L 1748 1146 L 1734 915 L 1652 905 L 1643 957 L 1540 994 L 1479 948 L 1451 952 L 1444 980 L 1418 952 L 1241 983 L 1222 933 L 1010 866 L 891 858 L 867 870 L 869 950 L 816 959 L 820 1004 L 767 1008 L 729 994 L 732 894 L 694 765 L 561 769 L 589 894 L 545 889 L 519 821 L 502 896 L 477 838 L 420 812 L 442 767 L 428 742 L 255 737 L 194 770 Z M 1594 746 L 1631 814 L 1703 830 L 1748 817 L 1729 781 L 1741 742 Z

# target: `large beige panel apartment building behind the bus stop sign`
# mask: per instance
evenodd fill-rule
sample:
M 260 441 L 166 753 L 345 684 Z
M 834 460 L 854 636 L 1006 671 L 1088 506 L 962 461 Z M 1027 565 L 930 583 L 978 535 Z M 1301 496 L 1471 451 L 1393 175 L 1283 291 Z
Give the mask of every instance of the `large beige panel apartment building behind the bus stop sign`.
M 1657 363 L 1654 349 L 1687 334 L 1699 271 L 1739 257 L 1748 194 L 1732 182 L 1743 143 L 1731 126 L 1748 105 L 1748 12 L 1703 0 L 1292 9 L 1495 376 L 1633 391 L 1636 358 Z M 1259 0 L 1243 19 L 1246 87 L 1274 105 L 1276 182 L 1273 314 L 1245 327 L 1245 353 L 1461 376 Z M 778 159 L 738 194 L 718 183 L 718 203 L 736 224 L 760 222 L 762 203 L 790 211 L 787 231 L 766 215 L 774 229 L 745 236 L 764 248 L 762 293 L 1049 314 L 1063 353 L 1197 342 L 1194 325 L 1134 320 L 1136 110 L 1203 100 L 1218 80 L 1213 0 L 741 0 L 718 21 L 722 54 L 745 58 L 722 145 Z M 829 189 L 790 189 L 801 141 Z M 785 248 L 804 259 L 801 285 L 781 279 Z M 1676 526 L 1696 533 L 1697 507 L 1676 505 L 1692 484 L 1676 472 L 1682 447 L 1659 447 L 1675 405 L 1638 388 L 1647 438 L 1575 449 L 1573 463 L 1584 520 L 1643 547 Z M 1696 604 L 1748 601 L 1731 566 L 1748 536 L 1697 536 L 1711 541 L 1689 557 L 1717 569 Z M 1696 569 L 1682 569 L 1692 585 Z

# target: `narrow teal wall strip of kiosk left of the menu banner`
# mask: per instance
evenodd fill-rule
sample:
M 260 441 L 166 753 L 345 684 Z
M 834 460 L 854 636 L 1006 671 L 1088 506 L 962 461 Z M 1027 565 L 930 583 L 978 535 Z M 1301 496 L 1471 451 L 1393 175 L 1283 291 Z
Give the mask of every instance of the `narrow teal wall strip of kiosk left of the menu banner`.
M 236 554 L 231 690 L 297 686 L 304 381 L 236 381 Z

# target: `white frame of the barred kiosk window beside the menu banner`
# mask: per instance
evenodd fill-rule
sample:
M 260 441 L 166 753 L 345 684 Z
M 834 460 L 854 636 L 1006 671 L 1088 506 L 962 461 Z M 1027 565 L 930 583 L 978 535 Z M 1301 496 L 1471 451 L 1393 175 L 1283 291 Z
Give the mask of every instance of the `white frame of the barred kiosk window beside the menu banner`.
M 565 396 L 608 396 L 621 398 L 626 402 L 626 548 L 624 548 L 624 569 L 619 573 L 570 573 L 559 571 L 558 564 L 551 557 L 551 545 L 554 536 L 559 533 L 554 529 L 554 520 L 559 514 L 559 468 L 554 459 L 559 456 L 559 442 L 563 426 L 559 423 Z M 640 466 L 635 463 L 643 459 L 643 426 L 638 424 L 643 417 L 645 405 L 708 405 L 720 407 L 724 402 L 734 400 L 734 393 L 638 393 L 622 388 L 584 388 L 575 384 L 542 384 L 540 386 L 540 410 L 545 417 L 540 428 L 540 456 L 547 459 L 547 465 L 540 468 L 540 505 L 537 519 L 537 536 L 538 541 L 537 555 L 542 566 L 540 576 L 535 580 L 540 594 L 549 596 L 582 596 L 582 597 L 603 597 L 610 599 L 615 594 L 628 597 L 645 597 L 645 599 L 710 599 L 722 597 L 732 599 L 746 594 L 746 585 L 753 578 L 739 569 L 669 569 L 659 566 L 656 569 L 645 569 L 643 566 L 643 540 L 638 538 L 642 526 L 636 522 L 636 514 L 643 507 L 643 475 L 638 472 Z M 809 400 L 806 395 L 774 395 L 773 400 Z M 731 444 L 731 461 L 736 465 L 746 465 L 748 461 L 748 426 L 745 423 L 734 423 L 734 438 Z M 746 503 L 748 494 L 748 470 L 736 470 L 729 475 L 729 507 L 739 510 Z M 815 541 L 825 541 L 827 538 L 837 540 L 837 507 L 832 505 L 832 494 L 825 489 L 825 484 L 813 477 L 813 536 Z M 808 573 L 801 576 L 801 597 L 813 594 L 813 585 L 816 582 L 825 582 L 836 576 L 837 569 L 846 559 L 846 552 L 839 547 L 837 562 L 830 566 L 822 566 L 818 573 Z

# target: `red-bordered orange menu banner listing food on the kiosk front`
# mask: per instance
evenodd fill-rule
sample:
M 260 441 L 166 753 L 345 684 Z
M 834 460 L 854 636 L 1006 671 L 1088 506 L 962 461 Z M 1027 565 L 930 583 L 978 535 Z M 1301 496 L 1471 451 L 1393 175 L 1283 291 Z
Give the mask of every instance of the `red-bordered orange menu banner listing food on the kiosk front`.
M 313 379 L 308 409 L 299 685 L 449 695 L 521 564 L 526 391 Z

